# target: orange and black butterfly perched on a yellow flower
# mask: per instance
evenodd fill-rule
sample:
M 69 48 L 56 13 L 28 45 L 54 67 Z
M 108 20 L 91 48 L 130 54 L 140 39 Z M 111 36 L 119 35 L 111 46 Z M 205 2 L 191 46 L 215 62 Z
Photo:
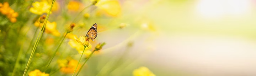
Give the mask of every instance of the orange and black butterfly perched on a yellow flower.
M 86 34 L 86 36 L 89 37 L 92 41 L 94 41 L 94 39 L 98 35 L 97 26 L 98 25 L 96 23 L 94 25 L 92 25 L 92 27 L 90 28 L 90 30 Z

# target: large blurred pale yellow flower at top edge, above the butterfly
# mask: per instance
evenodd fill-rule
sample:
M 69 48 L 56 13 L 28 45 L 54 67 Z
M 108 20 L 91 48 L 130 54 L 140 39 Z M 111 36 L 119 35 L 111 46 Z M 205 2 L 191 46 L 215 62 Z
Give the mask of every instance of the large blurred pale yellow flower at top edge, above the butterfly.
M 121 13 L 121 6 L 117 0 L 100 0 L 95 6 L 113 17 L 116 17 Z

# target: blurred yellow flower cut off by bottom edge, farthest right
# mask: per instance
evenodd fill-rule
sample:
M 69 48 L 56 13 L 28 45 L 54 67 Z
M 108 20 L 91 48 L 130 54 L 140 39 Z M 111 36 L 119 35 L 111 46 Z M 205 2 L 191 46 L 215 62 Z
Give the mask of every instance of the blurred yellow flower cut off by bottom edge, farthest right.
M 142 66 L 138 69 L 133 70 L 133 76 L 156 76 L 148 68 Z

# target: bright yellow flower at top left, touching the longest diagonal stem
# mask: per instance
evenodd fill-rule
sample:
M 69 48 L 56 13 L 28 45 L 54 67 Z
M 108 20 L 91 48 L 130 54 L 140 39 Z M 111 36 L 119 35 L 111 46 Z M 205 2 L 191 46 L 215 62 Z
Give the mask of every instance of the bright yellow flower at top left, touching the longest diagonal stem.
M 51 5 L 49 5 L 47 1 L 41 1 L 41 2 L 36 1 L 32 3 L 32 6 L 33 7 L 30 8 L 30 12 L 38 15 L 41 15 L 43 13 L 48 13 L 51 7 Z

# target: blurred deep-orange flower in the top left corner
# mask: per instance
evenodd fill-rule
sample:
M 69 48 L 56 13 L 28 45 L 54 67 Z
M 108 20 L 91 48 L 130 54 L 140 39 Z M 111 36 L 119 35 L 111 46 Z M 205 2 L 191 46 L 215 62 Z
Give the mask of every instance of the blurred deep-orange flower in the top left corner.
M 18 17 L 18 13 L 14 12 L 11 7 L 9 7 L 8 2 L 4 2 L 4 4 L 0 3 L 0 12 L 9 18 L 9 20 L 14 23 L 17 21 L 16 17 Z

